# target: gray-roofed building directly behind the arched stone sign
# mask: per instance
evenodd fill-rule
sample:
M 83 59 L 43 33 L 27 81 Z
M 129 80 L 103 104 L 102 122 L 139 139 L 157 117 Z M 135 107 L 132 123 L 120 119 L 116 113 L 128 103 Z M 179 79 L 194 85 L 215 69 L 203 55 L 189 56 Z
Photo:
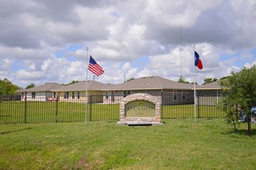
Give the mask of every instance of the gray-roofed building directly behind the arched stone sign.
M 193 103 L 193 84 L 177 83 L 159 76 L 142 77 L 104 86 L 104 103 L 120 102 L 127 95 L 147 93 L 161 99 L 161 104 Z

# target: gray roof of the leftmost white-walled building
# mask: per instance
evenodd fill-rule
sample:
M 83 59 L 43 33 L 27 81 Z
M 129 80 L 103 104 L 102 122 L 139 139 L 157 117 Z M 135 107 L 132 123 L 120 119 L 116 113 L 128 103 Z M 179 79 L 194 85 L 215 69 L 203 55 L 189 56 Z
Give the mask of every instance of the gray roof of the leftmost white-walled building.
M 18 92 L 40 92 L 40 91 L 51 91 L 57 87 L 63 87 L 63 84 L 59 83 L 45 83 L 37 87 L 32 87 L 28 89 L 22 89 Z

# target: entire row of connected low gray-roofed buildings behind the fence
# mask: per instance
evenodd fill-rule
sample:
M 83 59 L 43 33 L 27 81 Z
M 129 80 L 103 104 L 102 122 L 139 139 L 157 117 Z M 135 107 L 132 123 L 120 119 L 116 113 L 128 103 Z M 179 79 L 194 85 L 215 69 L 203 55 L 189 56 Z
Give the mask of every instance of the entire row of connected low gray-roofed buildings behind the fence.
M 87 98 L 86 98 L 87 89 Z M 221 95 L 219 82 L 196 85 L 199 105 L 215 105 Z M 22 89 L 22 99 L 32 101 L 85 102 L 87 103 L 120 103 L 124 97 L 136 93 L 156 96 L 162 105 L 192 104 L 193 84 L 177 83 L 159 76 L 132 79 L 119 84 L 105 84 L 94 80 L 81 81 L 69 85 L 45 83 L 39 87 Z

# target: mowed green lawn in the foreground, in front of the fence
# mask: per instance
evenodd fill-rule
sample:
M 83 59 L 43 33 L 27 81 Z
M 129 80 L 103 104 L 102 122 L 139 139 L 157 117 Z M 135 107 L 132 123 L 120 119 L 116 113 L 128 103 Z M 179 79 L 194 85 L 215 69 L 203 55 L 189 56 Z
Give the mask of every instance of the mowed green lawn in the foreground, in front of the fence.
M 225 119 L 162 119 L 0 125 L 0 169 L 254 169 L 256 125 L 234 132 Z

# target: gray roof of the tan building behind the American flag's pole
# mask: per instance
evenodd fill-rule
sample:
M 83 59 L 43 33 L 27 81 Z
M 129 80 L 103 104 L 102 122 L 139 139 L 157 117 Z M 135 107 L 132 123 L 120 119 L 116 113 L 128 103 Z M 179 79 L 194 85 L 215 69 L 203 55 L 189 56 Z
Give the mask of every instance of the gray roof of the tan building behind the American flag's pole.
M 104 87 L 106 84 L 88 80 L 87 85 L 86 82 L 78 82 L 78 83 L 73 83 L 67 86 L 55 88 L 52 91 L 86 91 L 86 86 L 87 86 L 87 91 L 100 91 L 102 87 Z

